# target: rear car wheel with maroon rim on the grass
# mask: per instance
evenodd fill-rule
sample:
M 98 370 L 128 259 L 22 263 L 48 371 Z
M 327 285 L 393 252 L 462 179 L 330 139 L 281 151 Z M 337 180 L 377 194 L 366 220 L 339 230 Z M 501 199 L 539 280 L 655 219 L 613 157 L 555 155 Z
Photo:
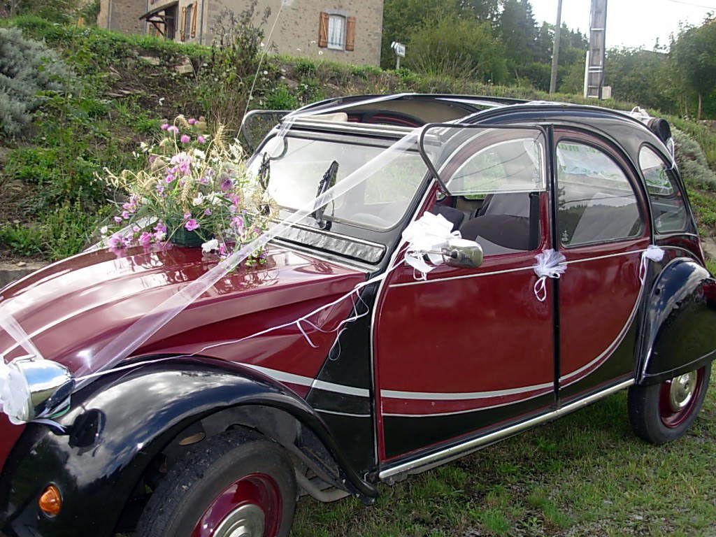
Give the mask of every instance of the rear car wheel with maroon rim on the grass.
M 677 440 L 691 427 L 706 397 L 711 364 L 659 384 L 629 388 L 629 422 L 652 444 Z

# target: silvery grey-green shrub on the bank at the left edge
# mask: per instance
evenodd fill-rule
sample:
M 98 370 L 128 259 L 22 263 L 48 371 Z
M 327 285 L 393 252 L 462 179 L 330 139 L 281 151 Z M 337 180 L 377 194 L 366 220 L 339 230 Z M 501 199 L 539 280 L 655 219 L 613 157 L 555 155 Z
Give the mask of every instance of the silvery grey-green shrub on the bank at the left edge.
M 19 29 L 0 28 L 0 129 L 16 136 L 32 120 L 43 94 L 63 92 L 72 74 L 44 44 Z

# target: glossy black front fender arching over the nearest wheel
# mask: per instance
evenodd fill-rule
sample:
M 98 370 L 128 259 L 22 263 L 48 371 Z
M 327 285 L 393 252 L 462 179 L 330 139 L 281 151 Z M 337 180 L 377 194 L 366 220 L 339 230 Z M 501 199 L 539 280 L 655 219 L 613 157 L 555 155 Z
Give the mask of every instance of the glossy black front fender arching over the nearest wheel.
M 0 533 L 10 536 L 112 537 L 150 463 L 196 427 L 207 434 L 241 424 L 256 411 L 263 422 L 285 425 L 277 442 L 332 485 L 363 500 L 377 491 L 345 463 L 309 405 L 265 375 L 232 362 L 177 358 L 111 372 L 72 396 L 57 421 L 64 434 L 29 424 L 16 442 L 0 480 Z M 274 424 L 276 425 L 276 424 Z M 222 429 L 223 427 L 223 429 Z M 290 446 L 289 446 L 290 445 Z M 49 484 L 62 493 L 59 515 L 39 513 Z M 2 520 L 0 518 L 0 520 Z

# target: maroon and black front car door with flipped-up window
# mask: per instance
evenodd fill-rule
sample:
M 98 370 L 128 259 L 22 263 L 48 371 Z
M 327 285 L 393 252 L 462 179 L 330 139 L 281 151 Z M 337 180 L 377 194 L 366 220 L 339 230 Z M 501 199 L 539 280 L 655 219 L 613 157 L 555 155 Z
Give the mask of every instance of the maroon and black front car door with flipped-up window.
M 400 265 L 382 284 L 374 317 L 381 462 L 554 402 L 553 301 L 533 290 L 535 256 L 550 247 L 545 137 L 505 127 L 458 134 L 432 140 L 447 153 L 435 168 L 450 195 L 435 188 L 421 211 L 449 216 L 485 258 L 476 269 L 438 266 L 425 279 Z

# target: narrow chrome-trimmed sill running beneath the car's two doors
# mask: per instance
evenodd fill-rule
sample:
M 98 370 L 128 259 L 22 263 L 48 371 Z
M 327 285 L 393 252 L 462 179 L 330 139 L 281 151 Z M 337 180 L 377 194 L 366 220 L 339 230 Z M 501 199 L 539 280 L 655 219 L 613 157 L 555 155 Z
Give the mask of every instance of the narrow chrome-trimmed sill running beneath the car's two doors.
M 406 463 L 400 463 L 395 466 L 384 468 L 384 470 L 379 472 L 378 478 L 380 480 L 387 480 L 402 473 L 419 473 L 420 471 L 428 470 L 430 468 L 424 467 L 432 467 L 435 466 L 436 463 L 446 463 L 448 460 L 468 455 L 479 448 L 483 448 L 485 445 L 492 444 L 498 440 L 503 440 L 504 438 L 515 435 L 523 430 L 530 429 L 536 425 L 554 420 L 558 417 L 569 414 L 570 412 L 579 410 L 582 407 L 586 407 L 586 405 L 590 405 L 591 403 L 607 397 L 608 395 L 624 390 L 624 388 L 627 388 L 632 384 L 634 384 L 634 379 L 620 382 L 619 384 L 606 388 L 606 390 L 601 390 L 601 392 L 596 392 L 595 394 L 584 397 L 584 399 L 571 402 L 569 405 L 565 405 L 557 410 L 553 410 L 552 412 L 547 412 L 541 416 L 534 417 L 531 420 L 517 423 L 516 425 L 511 425 L 510 427 L 505 427 L 505 429 L 495 432 L 490 432 L 488 435 L 473 438 L 472 440 L 468 440 L 462 444 L 450 446 L 450 448 L 445 448 L 444 450 L 436 451 L 435 453 L 430 453 L 429 455 L 409 460 Z

